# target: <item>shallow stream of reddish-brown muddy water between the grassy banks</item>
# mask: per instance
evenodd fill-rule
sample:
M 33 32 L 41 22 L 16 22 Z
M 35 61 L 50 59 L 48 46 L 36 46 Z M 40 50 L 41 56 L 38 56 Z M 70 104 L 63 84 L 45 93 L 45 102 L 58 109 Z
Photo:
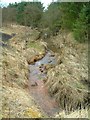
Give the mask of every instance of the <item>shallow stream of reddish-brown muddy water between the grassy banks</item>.
M 43 59 L 30 65 L 30 94 L 48 117 L 54 117 L 59 111 L 59 107 L 55 99 L 50 97 L 44 83 L 44 79 L 47 78 L 44 66 L 47 64 L 57 64 L 55 56 L 50 51 L 47 52 Z

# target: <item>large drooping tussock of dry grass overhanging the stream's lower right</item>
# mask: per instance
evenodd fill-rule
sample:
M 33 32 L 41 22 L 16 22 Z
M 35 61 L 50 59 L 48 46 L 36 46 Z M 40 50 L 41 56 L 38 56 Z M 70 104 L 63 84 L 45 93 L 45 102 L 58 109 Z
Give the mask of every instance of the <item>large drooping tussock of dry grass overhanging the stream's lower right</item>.
M 54 78 L 46 82 L 50 95 L 54 96 L 60 108 L 67 112 L 85 108 L 89 99 L 84 85 L 80 81 L 71 81 L 54 75 Z

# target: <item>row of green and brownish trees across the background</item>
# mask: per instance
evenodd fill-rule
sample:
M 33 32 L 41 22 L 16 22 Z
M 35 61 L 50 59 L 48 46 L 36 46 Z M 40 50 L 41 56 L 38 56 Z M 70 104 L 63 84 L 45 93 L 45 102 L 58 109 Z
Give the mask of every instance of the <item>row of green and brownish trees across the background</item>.
M 72 31 L 79 42 L 88 40 L 90 3 L 52 2 L 44 10 L 41 2 L 21 2 L 2 8 L 3 24 L 17 23 L 57 35 L 60 29 Z

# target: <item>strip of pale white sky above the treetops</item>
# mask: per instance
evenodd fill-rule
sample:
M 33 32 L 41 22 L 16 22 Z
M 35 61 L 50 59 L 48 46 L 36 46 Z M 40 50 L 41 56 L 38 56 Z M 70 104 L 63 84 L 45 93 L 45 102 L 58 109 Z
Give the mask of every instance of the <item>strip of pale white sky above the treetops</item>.
M 0 0 L 0 4 L 6 4 L 7 5 L 9 3 L 21 2 L 21 1 L 33 1 L 33 0 Z M 52 2 L 52 0 L 38 0 L 38 1 L 41 1 L 42 3 L 44 3 L 45 7 L 47 7 Z

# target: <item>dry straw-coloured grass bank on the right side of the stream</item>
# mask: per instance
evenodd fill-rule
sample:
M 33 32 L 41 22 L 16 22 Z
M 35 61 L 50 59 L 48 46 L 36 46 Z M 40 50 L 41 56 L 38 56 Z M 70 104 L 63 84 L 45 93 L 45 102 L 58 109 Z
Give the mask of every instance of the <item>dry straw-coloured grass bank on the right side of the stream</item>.
M 67 114 L 89 105 L 89 89 L 82 83 L 88 80 L 88 47 L 74 41 L 71 33 L 61 33 L 52 38 L 59 48 L 58 65 L 48 71 L 46 86 L 60 108 Z

